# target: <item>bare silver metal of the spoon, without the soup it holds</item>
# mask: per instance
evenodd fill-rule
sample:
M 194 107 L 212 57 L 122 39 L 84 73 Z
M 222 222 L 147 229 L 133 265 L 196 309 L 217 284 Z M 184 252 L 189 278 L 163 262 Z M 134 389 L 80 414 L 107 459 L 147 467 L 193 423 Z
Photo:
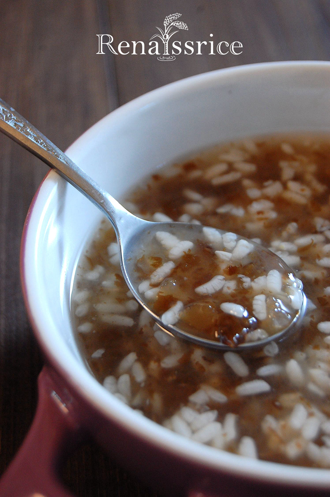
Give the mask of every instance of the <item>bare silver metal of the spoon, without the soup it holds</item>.
M 198 336 L 198 333 L 195 334 L 194 331 L 183 331 L 174 325 L 164 324 L 161 317 L 150 308 L 143 293 L 138 289 L 139 282 L 136 277 L 136 262 L 140 256 L 141 246 L 147 247 L 154 239 L 156 232 L 159 231 L 180 234 L 181 237 L 184 235 L 184 240 L 196 241 L 202 237 L 203 227 L 201 225 L 175 222 L 154 223 L 134 216 L 82 169 L 74 164 L 71 159 L 53 145 L 40 131 L 1 99 L 0 131 L 37 156 L 45 164 L 55 169 L 108 217 L 114 228 L 120 247 L 120 263 L 125 281 L 137 301 L 164 331 L 206 347 L 222 350 L 230 349 L 228 345 L 221 343 L 219 340 L 202 338 Z M 218 231 L 221 234 L 226 233 L 221 230 Z M 241 239 L 243 237 L 237 236 L 237 240 Z M 300 280 L 295 279 L 291 268 L 267 248 L 263 248 L 254 242 L 249 241 L 249 243 L 254 245 L 254 250 L 257 251 L 258 258 L 272 261 L 272 269 L 278 268 L 280 271 L 292 275 L 292 279 L 297 282 L 295 286 L 301 305 L 299 304 L 297 314 L 289 326 L 267 338 L 254 342 L 241 343 L 236 347 L 237 350 L 261 347 L 272 340 L 282 339 L 290 331 L 298 328 L 298 323 L 304 316 L 306 309 L 306 297 L 302 289 L 302 284 Z

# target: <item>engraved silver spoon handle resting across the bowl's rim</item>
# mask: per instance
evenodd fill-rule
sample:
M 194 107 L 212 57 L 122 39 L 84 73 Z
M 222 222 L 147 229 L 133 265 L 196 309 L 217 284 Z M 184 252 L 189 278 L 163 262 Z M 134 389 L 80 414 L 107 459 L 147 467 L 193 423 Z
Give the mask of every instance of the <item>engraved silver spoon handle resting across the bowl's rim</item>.
M 0 98 L 0 131 L 56 170 L 64 179 L 83 193 L 110 219 L 117 236 L 117 225 L 135 218 L 119 202 L 56 145 Z

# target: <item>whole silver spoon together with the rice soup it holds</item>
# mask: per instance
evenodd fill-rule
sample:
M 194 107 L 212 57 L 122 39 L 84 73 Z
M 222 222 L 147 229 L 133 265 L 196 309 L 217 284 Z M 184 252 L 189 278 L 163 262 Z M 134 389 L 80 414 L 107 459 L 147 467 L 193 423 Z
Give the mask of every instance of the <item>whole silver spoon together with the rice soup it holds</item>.
M 1 99 L 0 131 L 108 217 L 126 283 L 164 331 L 207 347 L 246 350 L 299 328 L 302 282 L 267 248 L 199 224 L 134 216 Z

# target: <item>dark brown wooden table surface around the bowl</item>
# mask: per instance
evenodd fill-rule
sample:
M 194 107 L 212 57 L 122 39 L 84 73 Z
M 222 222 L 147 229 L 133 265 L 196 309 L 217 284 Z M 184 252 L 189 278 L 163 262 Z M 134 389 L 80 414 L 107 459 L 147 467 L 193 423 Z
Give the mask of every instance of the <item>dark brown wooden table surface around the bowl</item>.
M 180 12 L 180 39 L 240 41 L 240 55 L 97 55 L 97 34 L 145 40 Z M 178 39 L 179 39 L 178 34 Z M 0 0 L 0 97 L 60 148 L 118 105 L 195 74 L 247 63 L 330 60 L 330 0 Z M 21 444 L 36 406 L 42 357 L 19 281 L 24 219 L 47 172 L 0 136 L 0 473 Z M 156 494 L 99 447 L 67 461 L 63 478 L 80 497 Z M 13 496 L 14 497 L 14 496 Z

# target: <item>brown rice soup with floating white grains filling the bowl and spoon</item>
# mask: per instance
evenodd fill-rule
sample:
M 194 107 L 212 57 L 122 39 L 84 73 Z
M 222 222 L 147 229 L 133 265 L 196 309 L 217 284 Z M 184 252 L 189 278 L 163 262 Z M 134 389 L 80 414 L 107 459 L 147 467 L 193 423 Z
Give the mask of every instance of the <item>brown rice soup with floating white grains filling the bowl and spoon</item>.
M 132 298 L 104 221 L 81 257 L 71 301 L 95 377 L 132 409 L 184 437 L 245 457 L 329 468 L 329 137 L 217 146 L 157 170 L 129 192 L 126 207 L 148 220 L 202 223 L 227 233 L 219 241 L 209 230 L 193 247 L 160 232 L 154 254 L 140 258 L 140 291 L 170 321 L 186 319 L 234 344 L 237 320 L 253 316 L 245 339 L 258 340 L 271 334 L 274 313 L 286 318 L 285 306 L 269 307 L 285 282 L 241 264 L 248 247 L 244 253 L 238 247 L 236 258 L 232 233 L 270 248 L 293 268 L 307 312 L 295 334 L 244 354 L 171 337 Z M 217 251 L 221 274 L 214 268 Z

